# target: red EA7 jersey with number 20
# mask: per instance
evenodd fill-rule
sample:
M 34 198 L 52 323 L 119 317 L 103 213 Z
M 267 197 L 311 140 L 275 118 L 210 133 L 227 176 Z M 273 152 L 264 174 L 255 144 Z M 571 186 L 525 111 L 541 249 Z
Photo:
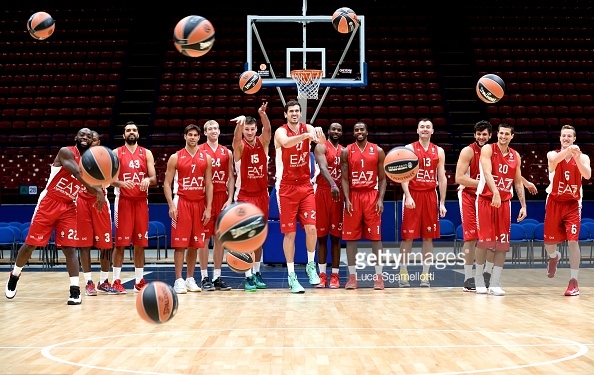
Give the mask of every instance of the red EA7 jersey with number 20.
M 491 155 L 491 174 L 493 175 L 495 186 L 499 190 L 501 201 L 505 202 L 511 200 L 514 196 L 514 177 L 518 168 L 519 155 L 511 147 L 508 147 L 507 154 L 503 155 L 497 143 L 491 144 L 491 148 L 493 150 L 493 154 Z M 480 170 L 481 177 L 476 191 L 481 197 L 491 199 L 493 198 L 493 192 L 489 189 L 487 181 L 483 176 L 482 166 Z

